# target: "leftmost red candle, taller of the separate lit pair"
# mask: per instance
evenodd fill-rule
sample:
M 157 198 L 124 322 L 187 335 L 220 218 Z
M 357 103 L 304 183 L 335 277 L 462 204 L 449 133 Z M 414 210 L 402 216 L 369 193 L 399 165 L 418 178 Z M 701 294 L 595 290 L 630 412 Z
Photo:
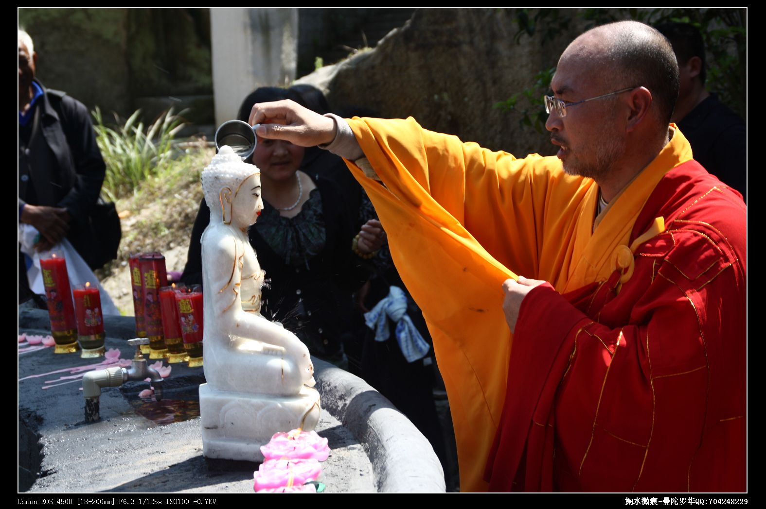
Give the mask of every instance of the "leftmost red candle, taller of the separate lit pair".
M 45 256 L 45 255 L 43 255 Z M 59 252 L 41 257 L 40 269 L 47 298 L 48 315 L 51 318 L 51 335 L 56 341 L 56 354 L 77 351 L 77 325 L 69 286 L 67 260 Z

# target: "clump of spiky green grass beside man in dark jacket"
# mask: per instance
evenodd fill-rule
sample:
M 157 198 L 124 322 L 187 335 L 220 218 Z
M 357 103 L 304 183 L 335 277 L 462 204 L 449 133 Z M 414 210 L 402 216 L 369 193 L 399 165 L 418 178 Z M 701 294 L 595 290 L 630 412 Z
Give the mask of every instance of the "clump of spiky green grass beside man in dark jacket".
M 141 110 L 123 121 L 114 114 L 116 125 L 107 126 L 98 106 L 91 112 L 96 123 L 96 141 L 106 162 L 106 176 L 101 191 L 110 201 L 132 193 L 142 181 L 162 172 L 172 160 L 172 142 L 186 122 L 186 110 L 169 109 L 145 126 Z

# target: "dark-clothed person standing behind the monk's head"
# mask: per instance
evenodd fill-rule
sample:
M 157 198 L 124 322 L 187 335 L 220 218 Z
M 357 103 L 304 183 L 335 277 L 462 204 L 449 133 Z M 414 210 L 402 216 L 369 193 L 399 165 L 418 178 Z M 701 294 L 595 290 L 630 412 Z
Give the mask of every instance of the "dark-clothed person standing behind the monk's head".
M 694 159 L 746 198 L 747 130 L 745 121 L 705 90 L 705 44 L 696 27 L 666 23 L 655 27 L 676 53 L 679 95 L 672 122 L 692 145 Z

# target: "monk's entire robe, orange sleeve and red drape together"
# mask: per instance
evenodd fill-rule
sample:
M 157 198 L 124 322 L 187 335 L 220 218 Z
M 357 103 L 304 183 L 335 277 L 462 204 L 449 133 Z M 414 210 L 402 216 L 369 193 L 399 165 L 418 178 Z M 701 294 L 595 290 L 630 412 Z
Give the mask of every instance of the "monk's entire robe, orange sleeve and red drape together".
M 557 158 L 413 119 L 349 126 L 385 186 L 349 168 L 434 339 L 463 491 L 744 485 L 745 205 L 679 131 L 594 227 L 597 185 Z M 502 313 L 514 272 L 566 295 L 530 292 L 520 339 Z

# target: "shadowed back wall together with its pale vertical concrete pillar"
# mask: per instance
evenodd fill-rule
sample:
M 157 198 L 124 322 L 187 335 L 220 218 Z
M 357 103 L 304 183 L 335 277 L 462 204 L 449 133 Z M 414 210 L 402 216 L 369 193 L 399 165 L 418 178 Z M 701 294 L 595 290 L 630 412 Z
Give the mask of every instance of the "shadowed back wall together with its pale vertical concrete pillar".
M 257 86 L 313 70 L 316 57 L 331 63 L 375 46 L 412 11 L 20 8 L 18 22 L 34 39 L 43 83 L 100 106 L 107 119 L 141 108 L 151 120 L 173 106 L 213 125 L 234 118 Z

